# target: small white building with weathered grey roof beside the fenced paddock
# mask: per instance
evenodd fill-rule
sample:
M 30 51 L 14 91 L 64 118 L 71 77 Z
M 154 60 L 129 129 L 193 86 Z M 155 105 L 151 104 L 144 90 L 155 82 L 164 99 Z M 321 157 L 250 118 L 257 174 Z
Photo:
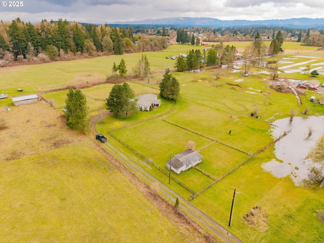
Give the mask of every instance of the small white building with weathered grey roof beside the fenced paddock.
M 194 167 L 198 163 L 201 163 L 203 156 L 197 151 L 187 149 L 181 153 L 174 155 L 171 160 L 171 170 L 180 174 L 183 171 Z M 167 168 L 170 170 L 170 159 L 167 161 Z

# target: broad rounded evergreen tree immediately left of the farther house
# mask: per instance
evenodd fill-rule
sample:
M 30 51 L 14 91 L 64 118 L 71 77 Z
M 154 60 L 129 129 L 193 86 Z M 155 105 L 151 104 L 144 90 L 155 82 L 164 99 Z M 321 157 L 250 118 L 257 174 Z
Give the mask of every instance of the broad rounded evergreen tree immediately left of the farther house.
M 130 111 L 138 111 L 134 98 L 135 92 L 127 83 L 114 85 L 106 100 L 107 109 L 118 117 L 127 117 Z

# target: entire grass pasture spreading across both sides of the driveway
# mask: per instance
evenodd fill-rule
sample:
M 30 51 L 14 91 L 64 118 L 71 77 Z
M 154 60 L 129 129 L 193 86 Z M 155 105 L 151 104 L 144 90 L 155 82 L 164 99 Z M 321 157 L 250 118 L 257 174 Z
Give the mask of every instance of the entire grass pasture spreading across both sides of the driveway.
M 230 45 L 235 46 L 235 43 Z M 239 43 L 239 45 L 240 48 L 244 48 L 244 45 L 248 44 Z M 284 49 L 295 50 L 299 55 L 301 47 L 298 45 L 284 43 Z M 174 45 L 164 51 L 146 53 L 153 74 L 149 80 L 132 79 L 132 82 L 129 82 L 130 86 L 137 94 L 158 93 L 156 90 L 158 82 L 163 76 L 161 70 L 168 65 L 172 68 L 175 63 L 174 60 L 165 57 L 186 53 L 187 50 L 196 48 L 190 45 Z M 302 48 L 303 53 L 316 52 L 314 48 Z M 128 69 L 131 70 L 141 55 L 134 53 L 121 57 L 126 60 Z M 121 57 L 110 56 L 4 68 L 0 70 L 0 83 L 3 84 L 0 93 L 14 96 L 17 95 L 16 88 L 35 92 L 37 89 L 45 91 L 73 83 L 99 84 L 105 82 L 112 63 L 119 63 Z M 280 64 L 281 66 L 298 64 L 292 67 L 293 69 L 303 67 L 303 64 L 299 64 L 303 61 L 316 59 L 297 55 L 282 57 L 291 58 L 282 60 L 293 63 Z M 318 58 L 313 63 L 321 62 L 322 59 Z M 168 184 L 166 175 L 153 166 L 145 165 L 129 149 L 112 139 L 108 131 L 143 121 L 117 130 L 113 134 L 164 169 L 166 161 L 170 159 L 170 152 L 176 154 L 183 151 L 186 143 L 193 140 L 196 149 L 202 149 L 200 153 L 204 156 L 203 163 L 197 165 L 197 168 L 218 178 L 244 161 L 249 156 L 246 154 L 248 151 L 255 152 L 271 142 L 273 137 L 269 132 L 271 126 L 268 123 L 288 117 L 292 108 L 298 110 L 298 115 L 301 115 L 300 112 L 307 106 L 311 107 L 312 114 L 324 113 L 322 106 L 308 101 L 312 94 L 319 93 L 306 91 L 305 95 L 300 94 L 302 100 L 300 105 L 294 94 L 270 89 L 269 75 L 259 73 L 261 68 L 252 67 L 252 69 L 256 74 L 248 77 L 239 77 L 240 72 L 233 72 L 233 69 L 206 68 L 200 73 L 173 73 L 181 85 L 181 98 L 177 101 L 175 110 L 166 115 L 165 120 L 158 117 L 143 121 L 170 111 L 174 107 L 174 102 L 163 100 L 161 106 L 154 111 L 132 114 L 127 119 L 119 119 L 114 115 L 107 116 L 96 124 L 96 129 L 106 135 L 109 142 L 121 152 L 136 160 L 140 167 L 165 184 Z M 215 72 L 221 72 L 220 79 L 215 77 Z M 309 74 L 280 73 L 279 78 L 310 80 L 314 77 L 310 77 Z M 243 80 L 238 82 L 238 79 Z M 315 79 L 324 81 L 322 75 Z M 104 99 L 112 86 L 100 84 L 82 89 L 88 97 L 90 109 L 102 108 L 104 101 L 95 101 L 89 97 Z M 53 102 L 55 107 L 61 107 L 64 105 L 66 92 L 57 91 L 43 95 Z M 10 105 L 5 103 L 9 101 L 10 99 L 0 100 L 0 106 Z M 258 119 L 250 116 L 256 107 L 260 115 Z M 4 212 L 2 213 L 2 216 L 5 215 L 4 219 L 10 219 L 8 223 L 2 220 L 7 231 L 0 234 L 0 238 L 5 237 L 4 241 L 8 242 L 13 242 L 14 239 L 103 241 L 103 237 L 108 235 L 105 239 L 119 242 L 131 242 L 134 239 L 152 242 L 157 237 L 161 237 L 161 241 L 164 242 L 187 240 L 175 229 L 173 223 L 161 217 L 131 183 L 122 180 L 123 175 L 109 165 L 99 152 L 89 147 L 86 136 L 66 129 L 60 114 L 49 104 L 40 101 L 36 104 L 11 108 L 10 112 L 3 108 L 0 110 L 2 117 L 0 124 L 6 126 L 0 130 L 0 135 L 4 139 L 0 153 L 6 158 L 0 160 L 0 165 L 3 166 L 3 170 L 0 171 L 0 188 L 3 198 L 7 199 L 0 202 L 0 209 Z M 213 143 L 215 139 L 229 146 Z M 273 150 L 274 146 L 270 146 L 190 202 L 244 242 L 323 241 L 324 228 L 316 217 L 316 211 L 324 207 L 323 189 L 307 190 L 295 186 L 289 178 L 276 178 L 264 171 L 262 164 L 275 158 Z M 194 168 L 180 175 L 175 173 L 173 175 L 195 191 L 212 182 L 211 178 Z M 14 189 L 9 191 L 9 185 L 14 185 Z M 26 187 L 28 190 L 22 191 L 22 188 Z M 175 181 L 171 182 L 170 187 L 185 198 L 189 198 L 189 191 Z M 239 193 L 236 194 L 232 226 L 228 227 L 234 188 Z M 116 194 L 120 194 L 120 197 L 114 197 Z M 16 195 L 19 200 L 15 198 Z M 133 210 L 132 204 L 134 212 L 128 215 L 129 209 Z M 120 205 L 121 209 L 117 208 L 117 205 Z M 249 225 L 243 216 L 255 206 L 261 207 L 266 217 L 262 222 Z M 37 212 L 36 208 L 41 209 L 39 213 L 30 214 Z M 11 212 L 16 214 L 12 215 Z M 54 214 L 55 212 L 61 214 Z M 34 223 L 28 225 L 26 222 L 30 221 Z M 65 225 L 62 222 L 65 222 Z M 157 225 L 155 222 L 161 223 Z M 11 234 L 12 225 L 15 224 L 22 228 L 20 231 L 23 233 L 20 235 L 17 230 L 15 234 Z M 43 224 L 45 228 L 41 227 Z M 85 234 L 77 235 L 71 225 L 84 230 Z M 54 227 L 58 227 L 59 230 L 55 231 Z M 34 231 L 35 228 L 41 229 L 39 238 Z M 152 231 L 149 235 L 145 235 L 143 232 L 146 233 L 149 229 Z M 172 238 L 168 235 L 172 235 Z

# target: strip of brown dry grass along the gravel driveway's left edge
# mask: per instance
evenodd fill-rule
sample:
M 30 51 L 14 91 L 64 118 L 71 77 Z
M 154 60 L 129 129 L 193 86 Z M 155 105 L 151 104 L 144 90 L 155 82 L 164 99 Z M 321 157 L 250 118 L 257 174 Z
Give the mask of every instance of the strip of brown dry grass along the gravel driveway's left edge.
M 129 181 L 149 200 L 151 203 L 171 222 L 173 222 L 179 231 L 184 235 L 187 242 L 219 242 L 217 239 L 209 233 L 205 228 L 198 223 L 190 219 L 186 214 L 180 210 L 176 210 L 174 205 L 171 205 L 169 201 L 156 194 L 156 189 L 148 186 L 141 181 L 136 175 L 129 171 L 124 165 L 114 158 L 110 153 L 103 149 L 99 144 L 96 144 L 97 149 L 100 150 L 109 161 L 123 173 Z M 153 183 L 154 185 L 154 183 Z

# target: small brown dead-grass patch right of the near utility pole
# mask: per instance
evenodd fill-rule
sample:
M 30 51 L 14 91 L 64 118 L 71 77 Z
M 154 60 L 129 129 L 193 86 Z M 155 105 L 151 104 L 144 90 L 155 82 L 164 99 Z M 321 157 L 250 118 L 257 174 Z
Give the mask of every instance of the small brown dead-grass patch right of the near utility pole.
M 263 209 L 250 209 L 250 212 L 243 218 L 249 226 L 258 228 L 261 232 L 265 232 L 268 229 L 267 215 L 264 213 Z

